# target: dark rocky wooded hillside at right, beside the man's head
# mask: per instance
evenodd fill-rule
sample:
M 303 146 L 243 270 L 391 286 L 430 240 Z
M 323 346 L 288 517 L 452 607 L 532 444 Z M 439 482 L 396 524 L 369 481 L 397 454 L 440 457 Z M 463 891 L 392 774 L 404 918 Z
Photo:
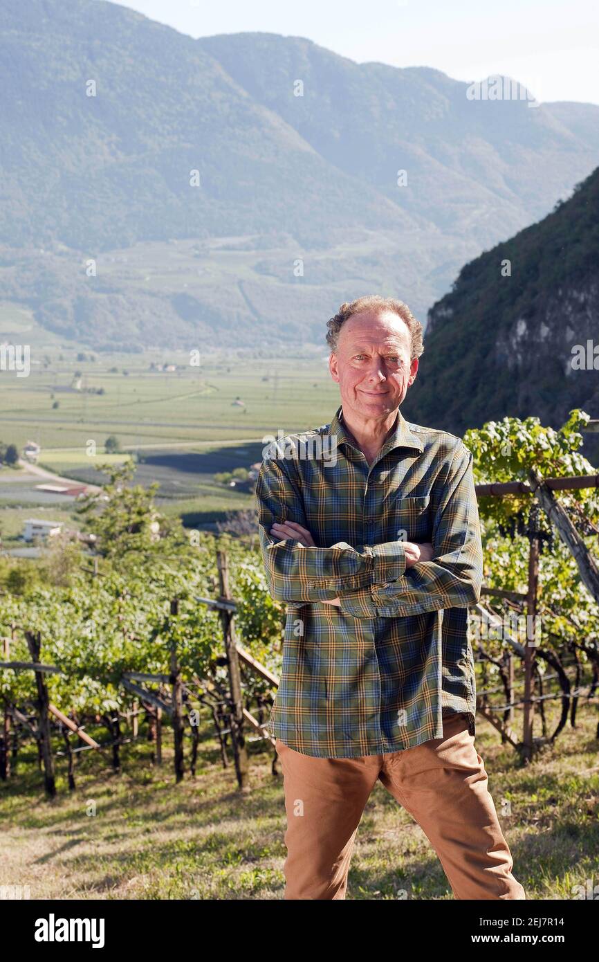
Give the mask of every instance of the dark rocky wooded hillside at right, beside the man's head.
M 506 415 L 555 428 L 573 408 L 596 418 L 598 317 L 599 168 L 554 213 L 462 267 L 429 312 L 406 416 L 459 435 Z

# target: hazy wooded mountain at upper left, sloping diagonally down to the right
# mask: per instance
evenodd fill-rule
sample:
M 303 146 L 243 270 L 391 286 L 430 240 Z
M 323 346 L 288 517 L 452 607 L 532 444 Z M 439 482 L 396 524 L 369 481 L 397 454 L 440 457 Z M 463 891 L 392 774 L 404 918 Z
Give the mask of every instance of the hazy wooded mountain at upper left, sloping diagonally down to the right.
M 110 250 L 285 230 L 287 220 L 310 235 L 316 218 L 413 227 L 192 38 L 90 0 L 6 0 L 1 16 L 0 231 L 12 244 Z M 315 197 L 297 189 L 310 183 Z

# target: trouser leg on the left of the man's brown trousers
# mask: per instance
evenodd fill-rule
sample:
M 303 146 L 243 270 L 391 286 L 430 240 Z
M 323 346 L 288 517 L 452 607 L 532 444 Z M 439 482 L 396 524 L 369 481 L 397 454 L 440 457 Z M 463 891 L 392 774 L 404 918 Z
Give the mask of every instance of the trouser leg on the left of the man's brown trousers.
M 358 825 L 382 755 L 313 758 L 279 739 L 287 831 L 285 899 L 345 899 Z

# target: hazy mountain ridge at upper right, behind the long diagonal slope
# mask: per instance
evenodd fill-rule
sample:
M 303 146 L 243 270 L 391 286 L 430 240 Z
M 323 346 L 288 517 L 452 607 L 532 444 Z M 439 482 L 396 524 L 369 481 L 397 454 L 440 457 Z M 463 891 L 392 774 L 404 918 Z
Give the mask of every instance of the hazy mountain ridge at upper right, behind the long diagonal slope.
M 234 34 L 198 43 L 321 157 L 431 228 L 465 231 L 481 246 L 545 215 L 565 183 L 573 187 L 599 162 L 596 133 L 587 140 L 599 119 L 594 105 L 560 112 L 559 104 L 468 99 L 470 85 L 439 70 L 354 63 L 304 38 Z M 293 95 L 296 80 L 303 96 Z M 580 108 L 578 131 L 568 125 L 570 107 Z M 407 170 L 404 190 L 398 168 Z

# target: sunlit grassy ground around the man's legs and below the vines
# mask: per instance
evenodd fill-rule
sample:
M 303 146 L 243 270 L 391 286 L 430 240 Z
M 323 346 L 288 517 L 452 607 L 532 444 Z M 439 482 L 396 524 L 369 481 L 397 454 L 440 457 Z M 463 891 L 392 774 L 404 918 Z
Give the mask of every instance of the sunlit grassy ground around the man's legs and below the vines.
M 599 882 L 595 726 L 583 708 L 576 730 L 566 728 L 555 747 L 521 767 L 478 722 L 476 747 L 529 900 L 572 899 L 573 886 Z M 282 899 L 286 818 L 272 753 L 250 743 L 251 792 L 240 796 L 209 729 L 203 738 L 198 771 L 180 785 L 168 737 L 162 767 L 151 764 L 143 738 L 122 748 L 120 774 L 108 758 L 82 752 L 73 793 L 60 758 L 51 802 L 35 752 L 24 747 L 11 781 L 0 783 L 0 884 L 29 885 L 32 899 Z M 408 899 L 453 899 L 428 839 L 378 783 L 362 815 L 347 898 L 398 899 L 402 890 Z

